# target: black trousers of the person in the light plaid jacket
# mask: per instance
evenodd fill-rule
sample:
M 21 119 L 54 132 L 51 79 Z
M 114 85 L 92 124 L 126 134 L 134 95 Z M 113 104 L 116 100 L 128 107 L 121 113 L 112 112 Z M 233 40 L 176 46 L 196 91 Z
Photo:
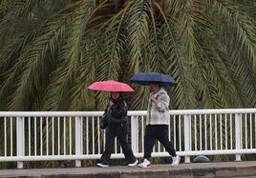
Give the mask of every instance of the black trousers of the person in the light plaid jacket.
M 167 125 L 147 125 L 144 136 L 144 158 L 150 159 L 155 141 L 159 140 L 162 146 L 171 156 L 176 156 L 173 143 L 168 138 Z

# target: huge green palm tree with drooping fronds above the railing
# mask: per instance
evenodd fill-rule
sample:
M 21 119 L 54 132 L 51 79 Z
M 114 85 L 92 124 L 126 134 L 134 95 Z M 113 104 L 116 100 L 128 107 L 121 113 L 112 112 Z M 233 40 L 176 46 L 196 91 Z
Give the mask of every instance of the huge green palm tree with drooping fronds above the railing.
M 172 75 L 172 109 L 256 107 L 255 0 L 0 0 L 0 109 L 102 110 L 95 81 Z M 146 109 L 133 85 L 130 109 Z

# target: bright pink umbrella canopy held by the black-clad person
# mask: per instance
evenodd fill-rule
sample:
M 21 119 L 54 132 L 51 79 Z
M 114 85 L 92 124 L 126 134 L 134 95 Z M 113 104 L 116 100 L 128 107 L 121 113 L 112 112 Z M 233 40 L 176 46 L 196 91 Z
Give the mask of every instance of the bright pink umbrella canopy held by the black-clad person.
M 122 91 L 122 92 L 134 91 L 134 89 L 132 89 L 127 84 L 117 82 L 115 80 L 95 82 L 91 86 L 89 86 L 88 89 L 102 90 L 102 91 Z

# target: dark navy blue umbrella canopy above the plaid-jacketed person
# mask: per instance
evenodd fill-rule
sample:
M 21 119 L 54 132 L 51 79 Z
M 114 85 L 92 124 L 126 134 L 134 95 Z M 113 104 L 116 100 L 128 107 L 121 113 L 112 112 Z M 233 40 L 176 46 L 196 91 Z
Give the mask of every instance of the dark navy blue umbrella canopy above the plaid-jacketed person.
M 176 85 L 176 81 L 170 75 L 158 72 L 138 72 L 130 78 L 130 82 L 142 86 L 147 86 L 150 82 L 160 82 L 161 87 Z

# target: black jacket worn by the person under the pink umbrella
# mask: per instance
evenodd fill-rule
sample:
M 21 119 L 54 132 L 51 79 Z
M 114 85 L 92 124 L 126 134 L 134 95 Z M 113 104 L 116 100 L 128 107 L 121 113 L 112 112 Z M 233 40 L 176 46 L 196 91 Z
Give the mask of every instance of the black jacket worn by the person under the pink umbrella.
M 106 129 L 109 125 L 117 125 L 120 123 L 125 123 L 127 121 L 127 111 L 128 107 L 126 102 L 122 97 L 114 100 L 111 98 L 114 105 L 106 107 L 102 119 L 100 120 L 100 129 Z

